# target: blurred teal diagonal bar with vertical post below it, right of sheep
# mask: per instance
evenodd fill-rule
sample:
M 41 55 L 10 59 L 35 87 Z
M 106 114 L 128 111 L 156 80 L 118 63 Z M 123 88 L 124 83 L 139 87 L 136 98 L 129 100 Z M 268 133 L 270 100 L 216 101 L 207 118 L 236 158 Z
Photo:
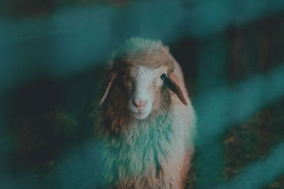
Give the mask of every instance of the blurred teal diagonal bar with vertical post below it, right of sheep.
M 284 96 L 283 81 L 284 64 L 280 64 L 267 74 L 255 75 L 233 86 L 218 87 L 197 96 L 200 187 L 214 185 L 222 177 L 221 137 L 224 131 Z

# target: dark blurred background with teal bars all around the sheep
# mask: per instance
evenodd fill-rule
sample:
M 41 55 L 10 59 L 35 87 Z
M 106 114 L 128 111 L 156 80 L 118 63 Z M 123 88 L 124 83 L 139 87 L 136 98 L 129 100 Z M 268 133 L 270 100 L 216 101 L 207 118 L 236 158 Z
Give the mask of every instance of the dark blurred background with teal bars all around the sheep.
M 284 1 L 0 6 L 0 188 L 92 188 L 91 104 L 111 52 L 162 40 L 197 111 L 187 188 L 284 188 Z

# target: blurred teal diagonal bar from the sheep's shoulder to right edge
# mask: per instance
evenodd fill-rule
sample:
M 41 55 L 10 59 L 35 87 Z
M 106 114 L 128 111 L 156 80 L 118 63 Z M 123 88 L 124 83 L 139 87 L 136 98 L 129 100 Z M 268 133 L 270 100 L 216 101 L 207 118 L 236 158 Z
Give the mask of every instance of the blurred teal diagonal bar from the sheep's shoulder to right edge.
M 200 93 L 195 101 L 200 137 L 207 138 L 204 142 L 219 138 L 231 125 L 243 122 L 258 109 L 277 101 L 284 96 L 283 81 L 284 64 L 280 64 L 266 74 L 256 74 L 234 85 Z

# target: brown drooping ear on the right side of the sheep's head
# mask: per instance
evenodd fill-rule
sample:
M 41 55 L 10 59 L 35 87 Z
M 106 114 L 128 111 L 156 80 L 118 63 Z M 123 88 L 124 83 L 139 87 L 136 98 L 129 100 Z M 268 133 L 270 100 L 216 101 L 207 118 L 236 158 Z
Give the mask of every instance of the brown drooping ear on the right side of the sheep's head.
M 175 73 L 169 74 L 167 79 L 165 79 L 165 84 L 166 86 L 168 86 L 168 88 L 170 88 L 171 91 L 173 91 L 178 96 L 178 98 L 183 104 L 188 104 L 187 99 L 185 98 L 185 94 L 180 89 L 180 82 L 178 80 L 178 76 Z

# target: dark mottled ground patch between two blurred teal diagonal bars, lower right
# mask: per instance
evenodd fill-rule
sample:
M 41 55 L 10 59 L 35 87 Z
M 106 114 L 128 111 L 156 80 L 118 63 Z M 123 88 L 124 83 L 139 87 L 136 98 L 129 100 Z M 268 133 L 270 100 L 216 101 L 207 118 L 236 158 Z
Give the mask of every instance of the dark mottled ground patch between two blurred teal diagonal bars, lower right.
M 224 135 L 224 179 L 265 156 L 284 139 L 284 100 L 259 110 L 252 118 Z

